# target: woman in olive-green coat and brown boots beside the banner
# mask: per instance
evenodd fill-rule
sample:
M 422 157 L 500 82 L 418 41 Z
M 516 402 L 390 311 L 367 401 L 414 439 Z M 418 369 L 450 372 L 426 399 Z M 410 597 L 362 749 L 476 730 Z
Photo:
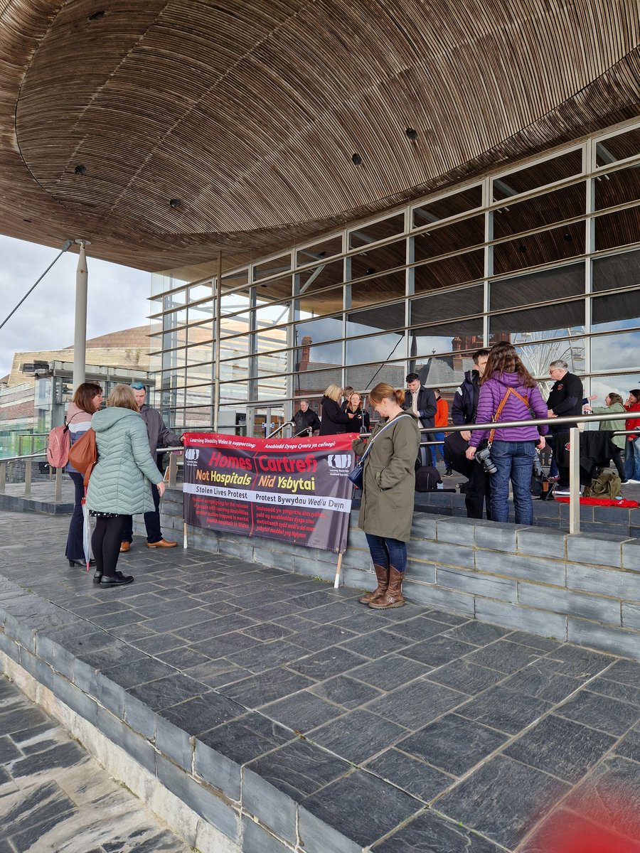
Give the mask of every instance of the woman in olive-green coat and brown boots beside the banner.
M 358 526 L 366 534 L 378 586 L 360 601 L 383 610 L 404 604 L 402 581 L 413 519 L 420 431 L 415 417 L 401 409 L 404 391 L 381 382 L 369 394 L 369 402 L 381 420 L 373 427 L 371 449 L 364 459 Z M 358 456 L 366 446 L 360 438 L 352 443 Z

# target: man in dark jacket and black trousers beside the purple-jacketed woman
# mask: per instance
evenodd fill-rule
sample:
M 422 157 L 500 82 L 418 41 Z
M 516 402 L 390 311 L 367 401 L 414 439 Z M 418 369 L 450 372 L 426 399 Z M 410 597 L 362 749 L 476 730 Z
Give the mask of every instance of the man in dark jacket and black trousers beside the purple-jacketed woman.
M 478 410 L 478 397 L 480 397 L 480 378 L 485 372 L 486 359 L 488 357 L 488 350 L 475 351 L 473 355 L 474 368 L 473 370 L 467 370 L 461 385 L 457 387 L 453 397 L 453 405 L 451 406 L 451 421 L 457 427 L 475 423 L 475 413 Z M 487 519 L 491 519 L 491 474 L 486 474 L 480 464 L 475 461 L 469 461 L 464 456 L 464 450 L 466 450 L 464 445 L 468 445 L 468 440 L 471 438 L 470 430 L 463 430 L 463 432 L 458 433 L 451 432 L 450 441 L 454 444 L 457 442 L 457 439 L 454 438 L 456 435 L 460 436 L 458 443 L 461 452 L 456 454 L 457 460 L 454 461 L 451 459 L 451 463 L 457 471 L 468 477 L 467 488 L 464 494 L 467 517 L 469 519 L 481 519 L 482 507 L 485 504 L 486 517 Z M 449 460 L 447 460 L 447 464 L 449 464 Z

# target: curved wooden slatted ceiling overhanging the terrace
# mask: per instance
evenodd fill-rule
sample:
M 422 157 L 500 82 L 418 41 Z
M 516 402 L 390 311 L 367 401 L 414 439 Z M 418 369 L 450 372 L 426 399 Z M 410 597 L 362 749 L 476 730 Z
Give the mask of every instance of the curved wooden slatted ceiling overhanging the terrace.
M 3 233 L 148 270 L 241 263 L 637 116 L 639 12 L 0 0 Z

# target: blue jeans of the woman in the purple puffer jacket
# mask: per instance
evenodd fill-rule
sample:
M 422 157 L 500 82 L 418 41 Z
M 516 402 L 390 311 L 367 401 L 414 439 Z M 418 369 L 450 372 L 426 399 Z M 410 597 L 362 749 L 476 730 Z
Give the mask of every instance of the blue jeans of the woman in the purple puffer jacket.
M 515 524 L 533 524 L 531 475 L 536 445 L 533 441 L 494 441 L 492 460 L 492 520 L 509 521 L 509 480 L 514 491 Z

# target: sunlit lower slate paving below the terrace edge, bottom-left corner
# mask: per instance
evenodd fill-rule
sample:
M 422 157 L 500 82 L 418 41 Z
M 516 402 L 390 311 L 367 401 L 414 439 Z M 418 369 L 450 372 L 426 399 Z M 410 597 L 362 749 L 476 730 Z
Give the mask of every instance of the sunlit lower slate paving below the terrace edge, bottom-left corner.
M 0 676 L 2 853 L 187 853 L 58 723 Z

